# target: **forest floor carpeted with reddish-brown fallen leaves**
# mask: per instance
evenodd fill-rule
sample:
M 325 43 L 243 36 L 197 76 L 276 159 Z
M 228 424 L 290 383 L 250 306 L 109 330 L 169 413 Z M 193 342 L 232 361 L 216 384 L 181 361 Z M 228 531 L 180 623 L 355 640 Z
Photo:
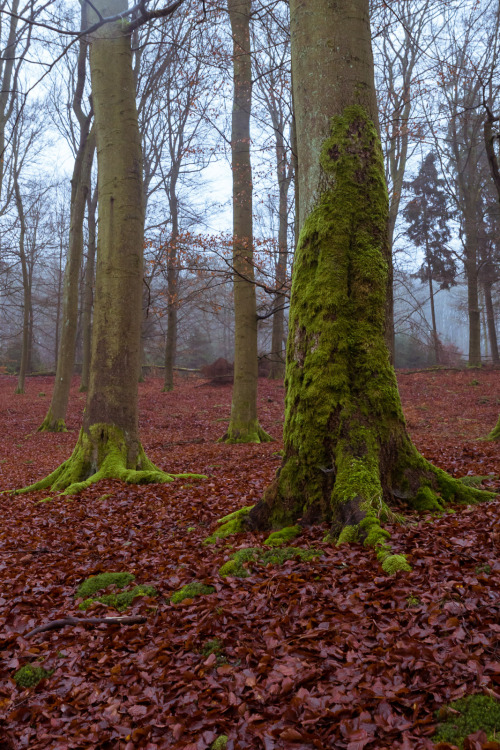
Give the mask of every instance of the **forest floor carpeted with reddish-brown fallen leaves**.
M 494 475 L 498 443 L 480 441 L 500 411 L 499 371 L 400 374 L 418 449 L 455 476 Z M 74 382 L 69 432 L 37 433 L 53 378 L 0 376 L 0 489 L 23 487 L 69 457 L 85 397 Z M 372 551 L 323 543 L 326 527 L 292 542 L 320 550 L 311 562 L 249 563 L 247 578 L 220 566 L 265 534 L 203 546 L 216 519 L 256 502 L 280 457 L 284 390 L 261 380 L 267 445 L 218 444 L 229 386 L 179 380 L 139 386 L 143 445 L 162 469 L 207 479 L 127 486 L 102 481 L 74 498 L 0 495 L 0 750 L 425 750 L 435 712 L 464 694 L 500 698 L 500 501 L 390 527 L 411 573 L 383 574 Z M 39 625 L 116 615 L 82 611 L 79 584 L 129 571 L 155 596 L 126 615 L 143 624 L 76 624 L 31 638 Z M 198 581 L 210 595 L 172 604 Z M 36 687 L 13 676 L 28 663 L 50 676 Z M 473 750 L 486 747 L 471 739 Z M 466 743 L 467 744 L 467 743 Z M 223 743 L 220 744 L 222 747 Z M 441 744 L 440 748 L 452 745 Z M 490 743 L 488 747 L 500 747 Z

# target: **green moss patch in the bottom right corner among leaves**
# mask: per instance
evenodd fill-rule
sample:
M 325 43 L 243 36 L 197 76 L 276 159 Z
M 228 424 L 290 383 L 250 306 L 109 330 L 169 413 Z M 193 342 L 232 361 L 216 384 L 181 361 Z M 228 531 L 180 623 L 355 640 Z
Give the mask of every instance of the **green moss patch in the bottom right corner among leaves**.
M 456 711 L 458 715 L 454 713 Z M 446 721 L 439 725 L 432 738 L 435 743 L 449 742 L 462 748 L 464 739 L 479 730 L 486 733 L 488 740 L 498 739 L 500 702 L 489 695 L 468 695 L 448 708 L 440 709 L 438 718 L 446 718 Z

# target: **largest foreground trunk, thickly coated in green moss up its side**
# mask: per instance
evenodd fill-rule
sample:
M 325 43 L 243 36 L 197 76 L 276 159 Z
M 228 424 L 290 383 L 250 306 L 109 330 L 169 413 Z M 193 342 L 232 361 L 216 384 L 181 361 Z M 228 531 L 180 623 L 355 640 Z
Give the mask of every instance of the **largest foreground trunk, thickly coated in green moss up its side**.
M 368 0 L 291 0 L 290 7 L 300 237 L 285 446 L 248 523 L 328 521 L 334 539 L 375 546 L 384 570 L 394 572 L 407 568 L 381 527 L 394 499 L 437 509 L 480 495 L 417 453 L 389 363 L 388 198 Z

